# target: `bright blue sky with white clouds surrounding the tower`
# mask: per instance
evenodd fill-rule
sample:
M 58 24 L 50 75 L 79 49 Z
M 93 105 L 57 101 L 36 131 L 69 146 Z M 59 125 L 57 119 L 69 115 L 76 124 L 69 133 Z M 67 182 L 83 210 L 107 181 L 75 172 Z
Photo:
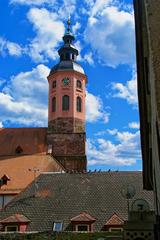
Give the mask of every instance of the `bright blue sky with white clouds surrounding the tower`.
M 140 170 L 132 1 L 1 0 L 0 9 L 0 126 L 47 126 L 46 77 L 70 15 L 88 76 L 88 168 Z

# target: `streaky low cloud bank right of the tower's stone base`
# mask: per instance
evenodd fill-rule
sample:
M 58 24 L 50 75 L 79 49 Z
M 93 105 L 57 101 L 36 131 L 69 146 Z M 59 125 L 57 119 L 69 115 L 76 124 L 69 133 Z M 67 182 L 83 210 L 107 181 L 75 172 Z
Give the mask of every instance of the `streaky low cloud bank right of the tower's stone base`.
M 105 138 L 87 140 L 89 166 L 131 166 L 141 160 L 139 131 L 130 133 L 116 130 L 111 135 L 114 135 L 114 141 Z

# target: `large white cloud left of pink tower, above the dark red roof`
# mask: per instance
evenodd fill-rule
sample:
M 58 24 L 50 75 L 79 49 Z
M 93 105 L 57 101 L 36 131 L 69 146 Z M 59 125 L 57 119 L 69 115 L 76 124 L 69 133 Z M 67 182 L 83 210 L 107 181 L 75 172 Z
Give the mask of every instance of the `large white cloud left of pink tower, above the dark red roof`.
M 47 126 L 48 73 L 49 69 L 41 64 L 11 77 L 0 92 L 0 122 Z

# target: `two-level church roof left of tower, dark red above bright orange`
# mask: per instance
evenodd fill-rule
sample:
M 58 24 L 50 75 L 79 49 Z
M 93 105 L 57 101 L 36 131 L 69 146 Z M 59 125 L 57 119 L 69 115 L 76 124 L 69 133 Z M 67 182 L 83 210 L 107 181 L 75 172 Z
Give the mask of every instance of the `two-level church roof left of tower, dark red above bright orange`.
M 60 172 L 62 166 L 46 154 L 47 128 L 0 129 L 0 178 L 10 178 L 0 194 L 17 194 L 34 180 L 33 169 L 41 172 Z M 22 149 L 19 153 L 16 149 Z M 31 169 L 31 171 L 29 171 Z

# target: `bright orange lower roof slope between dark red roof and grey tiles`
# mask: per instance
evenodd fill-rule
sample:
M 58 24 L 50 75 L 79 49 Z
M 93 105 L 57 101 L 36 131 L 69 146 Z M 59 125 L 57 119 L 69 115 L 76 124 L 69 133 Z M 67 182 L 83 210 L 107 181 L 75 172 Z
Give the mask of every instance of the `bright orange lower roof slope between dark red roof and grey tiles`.
M 17 194 L 34 180 L 33 171 L 37 168 L 36 176 L 41 172 L 61 172 L 63 169 L 50 155 L 36 154 L 19 157 L 0 157 L 0 177 L 6 174 L 10 181 L 3 185 L 0 194 Z

